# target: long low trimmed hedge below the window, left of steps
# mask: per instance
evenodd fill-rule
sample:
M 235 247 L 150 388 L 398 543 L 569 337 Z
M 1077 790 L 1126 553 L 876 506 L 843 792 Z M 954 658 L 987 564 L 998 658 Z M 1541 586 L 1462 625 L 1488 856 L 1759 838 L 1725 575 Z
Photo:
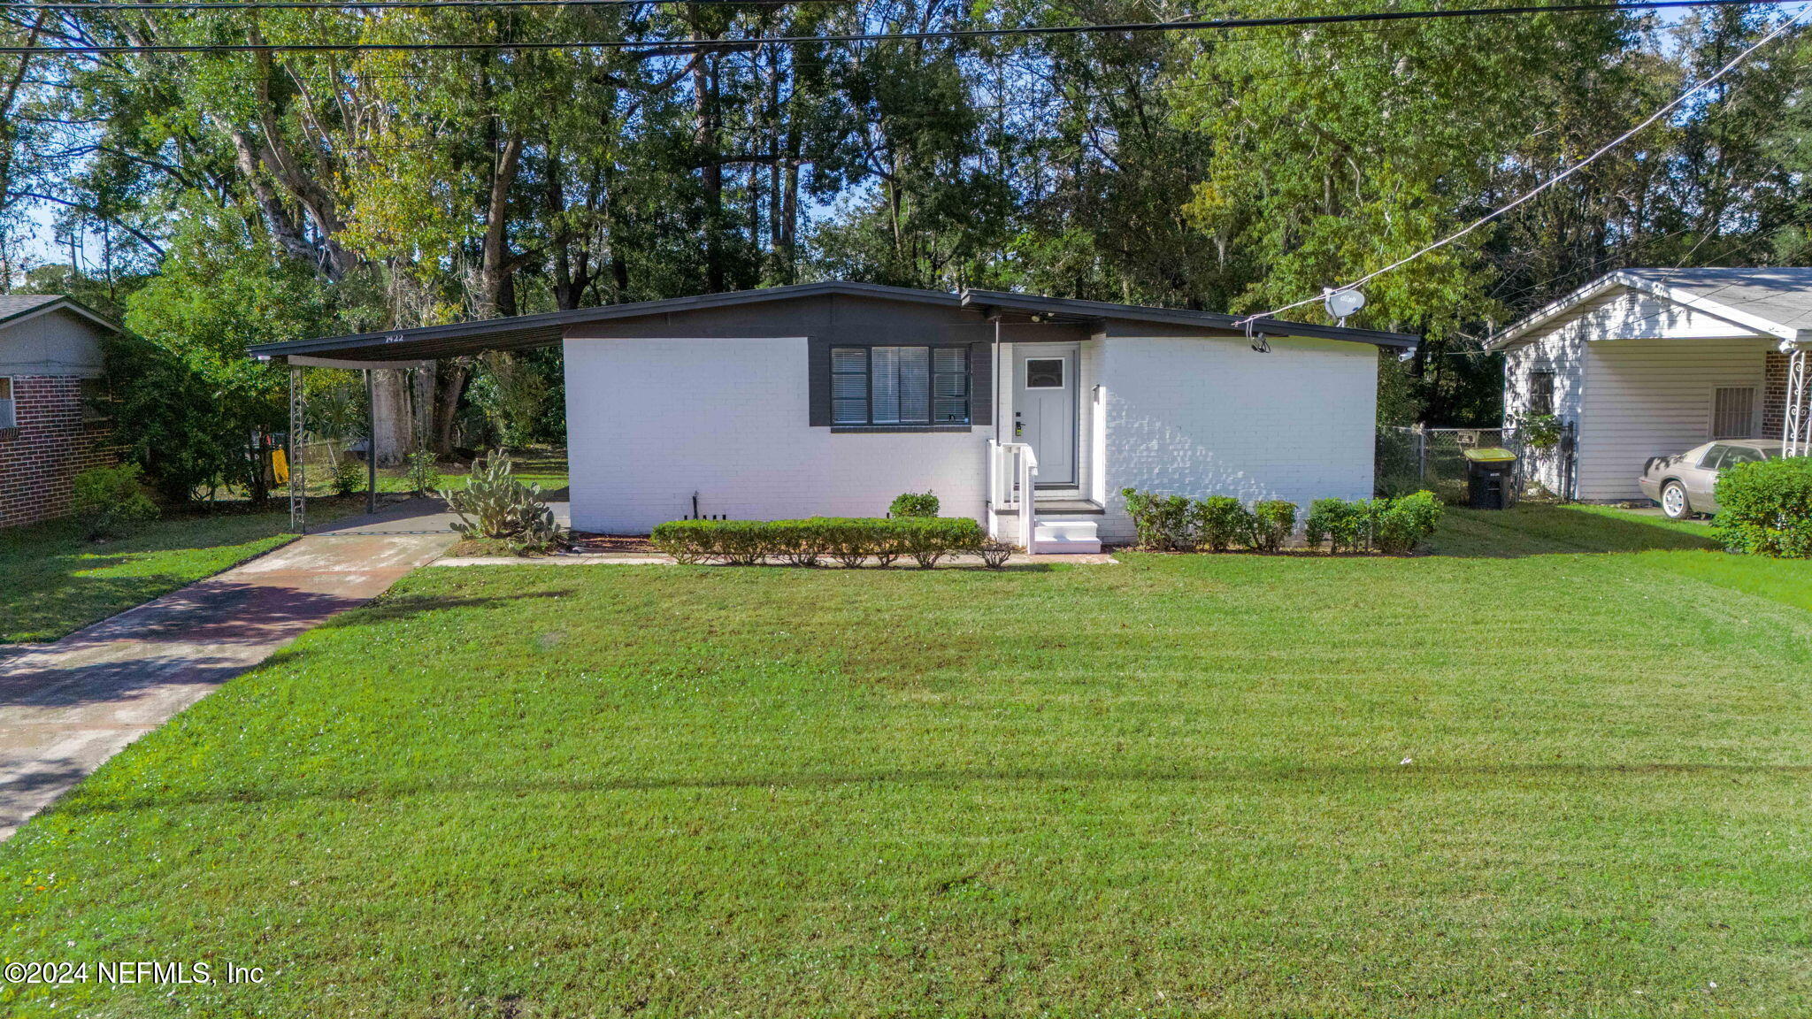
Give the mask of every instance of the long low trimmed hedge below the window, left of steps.
M 951 553 L 982 551 L 988 535 L 968 517 L 812 517 L 808 520 L 669 520 L 651 535 L 680 562 L 718 560 L 754 566 L 768 558 L 815 566 L 830 557 L 844 566 L 873 558 L 888 566 L 910 555 L 933 568 Z

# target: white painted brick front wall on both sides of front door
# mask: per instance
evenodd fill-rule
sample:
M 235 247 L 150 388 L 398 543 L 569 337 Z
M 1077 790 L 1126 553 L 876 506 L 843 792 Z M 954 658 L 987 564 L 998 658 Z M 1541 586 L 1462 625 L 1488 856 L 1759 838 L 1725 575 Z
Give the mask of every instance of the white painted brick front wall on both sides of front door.
M 1377 354 L 1285 339 L 1084 343 L 1082 399 L 1105 386 L 1102 535 L 1132 537 L 1120 490 L 1288 499 L 1372 493 Z M 832 433 L 808 426 L 805 339 L 569 339 L 573 526 L 647 533 L 699 510 L 739 519 L 868 517 L 933 490 L 946 515 L 984 513 L 991 428 Z M 1087 471 L 1085 471 L 1087 473 Z M 1087 479 L 1085 484 L 1094 479 Z M 1091 488 L 1094 488 L 1091 484 Z

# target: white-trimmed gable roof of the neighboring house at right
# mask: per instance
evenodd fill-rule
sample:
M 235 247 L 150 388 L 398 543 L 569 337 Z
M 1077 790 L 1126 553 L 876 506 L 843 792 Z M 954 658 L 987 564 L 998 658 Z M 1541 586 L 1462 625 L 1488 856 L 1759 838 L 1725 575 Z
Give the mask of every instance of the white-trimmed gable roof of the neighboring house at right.
M 1812 339 L 1812 268 L 1624 268 L 1495 334 L 1486 348 L 1504 348 L 1558 328 L 1616 290 L 1651 294 L 1761 335 Z

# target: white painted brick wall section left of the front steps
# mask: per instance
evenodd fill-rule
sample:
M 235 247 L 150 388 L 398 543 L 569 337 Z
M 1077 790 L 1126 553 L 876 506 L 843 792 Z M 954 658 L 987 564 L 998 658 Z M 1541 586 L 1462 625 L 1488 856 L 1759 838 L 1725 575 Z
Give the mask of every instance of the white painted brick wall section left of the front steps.
M 647 533 L 699 510 L 879 517 L 933 490 L 982 517 L 989 430 L 832 433 L 808 424 L 805 339 L 567 339 L 573 526 Z

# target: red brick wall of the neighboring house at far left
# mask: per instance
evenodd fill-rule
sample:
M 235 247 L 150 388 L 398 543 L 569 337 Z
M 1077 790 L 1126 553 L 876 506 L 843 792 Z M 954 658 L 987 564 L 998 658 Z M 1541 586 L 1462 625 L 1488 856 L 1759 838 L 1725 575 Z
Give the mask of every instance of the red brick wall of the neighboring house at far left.
M 0 528 L 69 511 L 78 473 L 114 462 L 105 421 L 82 421 L 76 375 L 13 375 L 18 428 L 0 430 Z

